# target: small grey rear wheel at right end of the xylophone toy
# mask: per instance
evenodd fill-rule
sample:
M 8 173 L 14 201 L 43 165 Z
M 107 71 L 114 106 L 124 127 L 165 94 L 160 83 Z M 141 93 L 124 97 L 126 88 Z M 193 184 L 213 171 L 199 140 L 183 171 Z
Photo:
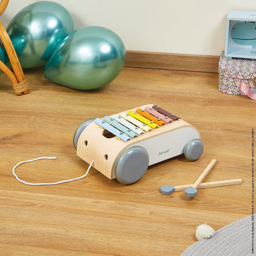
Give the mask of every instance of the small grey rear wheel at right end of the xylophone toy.
M 202 151 L 204 151 L 204 144 L 199 138 L 190 140 L 190 142 L 186 143 L 184 149 L 185 158 L 189 161 L 195 161 L 200 158 Z

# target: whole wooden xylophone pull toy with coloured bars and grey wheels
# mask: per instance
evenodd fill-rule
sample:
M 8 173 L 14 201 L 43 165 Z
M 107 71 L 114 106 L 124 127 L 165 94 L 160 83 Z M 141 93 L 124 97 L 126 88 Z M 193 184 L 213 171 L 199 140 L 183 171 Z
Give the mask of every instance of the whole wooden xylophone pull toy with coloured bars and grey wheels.
M 180 154 L 198 159 L 204 145 L 198 130 L 157 105 L 87 119 L 74 132 L 79 158 L 110 179 L 132 184 L 148 166 Z

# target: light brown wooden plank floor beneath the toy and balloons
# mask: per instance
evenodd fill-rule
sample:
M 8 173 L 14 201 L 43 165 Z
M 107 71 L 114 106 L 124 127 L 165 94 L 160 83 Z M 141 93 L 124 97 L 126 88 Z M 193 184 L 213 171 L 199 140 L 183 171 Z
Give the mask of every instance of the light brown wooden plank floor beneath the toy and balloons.
M 196 242 L 196 226 L 215 230 L 251 214 L 253 100 L 218 91 L 218 74 L 124 68 L 118 78 L 91 92 L 57 86 L 42 70 L 25 71 L 31 93 L 16 96 L 0 77 L 1 255 L 180 255 Z M 201 132 L 204 153 L 151 166 L 134 185 L 121 185 L 91 169 L 86 178 L 54 186 L 28 182 L 78 177 L 89 166 L 76 156 L 73 133 L 88 118 L 153 103 Z M 99 145 L 100 146 L 100 145 Z M 159 193 L 162 185 L 193 183 L 212 159 L 205 182 L 242 178 L 236 186 Z

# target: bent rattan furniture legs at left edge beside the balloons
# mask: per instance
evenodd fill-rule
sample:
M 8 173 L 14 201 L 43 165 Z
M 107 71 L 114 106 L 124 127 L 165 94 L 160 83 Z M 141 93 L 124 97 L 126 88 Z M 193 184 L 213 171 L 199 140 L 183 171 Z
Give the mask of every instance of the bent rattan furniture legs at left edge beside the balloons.
M 9 4 L 9 0 L 2 0 L 0 3 L 0 15 L 6 10 L 7 5 Z M 14 46 L 10 41 L 9 35 L 7 34 L 6 29 L 0 22 L 0 38 L 2 44 L 6 49 L 7 55 L 10 60 L 10 65 L 12 66 L 13 72 L 0 60 L 0 69 L 4 72 L 10 82 L 12 82 L 12 87 L 14 88 L 14 92 L 17 95 L 28 94 L 30 90 L 28 89 L 28 84 L 26 82 L 22 66 L 20 65 L 20 61 L 18 60 L 17 54 L 15 52 Z

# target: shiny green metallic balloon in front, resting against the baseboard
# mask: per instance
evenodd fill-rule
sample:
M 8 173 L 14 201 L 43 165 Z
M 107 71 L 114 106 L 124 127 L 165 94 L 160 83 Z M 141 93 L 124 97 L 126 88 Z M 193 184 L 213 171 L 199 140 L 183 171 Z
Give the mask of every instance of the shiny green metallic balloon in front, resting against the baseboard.
M 66 37 L 44 67 L 46 78 L 56 84 L 91 90 L 111 82 L 126 60 L 122 40 L 101 26 L 87 26 Z

